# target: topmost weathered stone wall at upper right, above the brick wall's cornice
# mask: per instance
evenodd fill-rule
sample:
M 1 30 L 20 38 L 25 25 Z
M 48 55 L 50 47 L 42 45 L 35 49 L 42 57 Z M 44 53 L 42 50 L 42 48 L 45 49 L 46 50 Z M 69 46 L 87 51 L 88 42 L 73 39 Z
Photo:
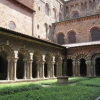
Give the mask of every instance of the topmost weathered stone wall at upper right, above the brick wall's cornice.
M 94 15 L 100 12 L 100 0 L 71 0 L 66 2 L 66 19 L 73 18 L 74 13 L 79 17 Z

